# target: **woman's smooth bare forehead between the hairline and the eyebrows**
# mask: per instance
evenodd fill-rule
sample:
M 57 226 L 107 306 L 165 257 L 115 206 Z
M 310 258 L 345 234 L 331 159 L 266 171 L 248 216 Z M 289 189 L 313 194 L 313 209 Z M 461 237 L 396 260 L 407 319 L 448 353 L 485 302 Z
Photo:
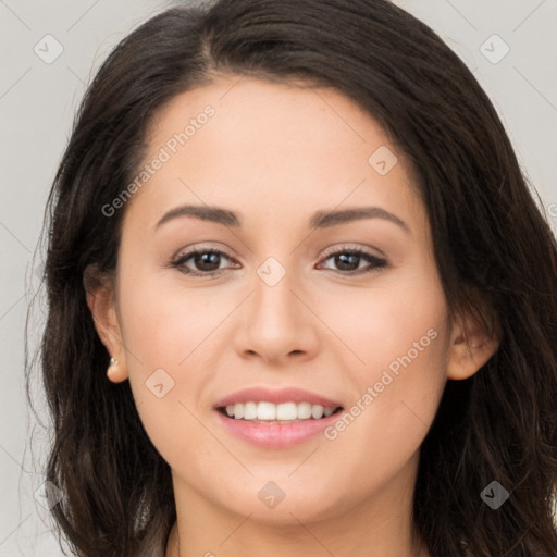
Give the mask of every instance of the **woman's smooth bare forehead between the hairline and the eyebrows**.
M 135 196 L 151 222 L 178 201 L 289 219 L 342 203 L 416 203 L 404 153 L 335 89 L 219 77 L 161 109 L 148 144 L 146 164 L 164 159 Z

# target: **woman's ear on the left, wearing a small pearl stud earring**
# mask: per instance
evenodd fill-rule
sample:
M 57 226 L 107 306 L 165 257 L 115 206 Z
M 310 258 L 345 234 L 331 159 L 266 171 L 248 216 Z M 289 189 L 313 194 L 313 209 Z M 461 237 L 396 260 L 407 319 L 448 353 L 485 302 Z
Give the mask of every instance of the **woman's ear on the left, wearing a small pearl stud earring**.
M 96 267 L 89 265 L 85 270 L 83 284 L 99 338 L 110 356 L 117 360 L 117 364 L 110 366 L 108 377 L 114 383 L 125 381 L 128 374 L 116 312 L 114 281 L 100 273 Z

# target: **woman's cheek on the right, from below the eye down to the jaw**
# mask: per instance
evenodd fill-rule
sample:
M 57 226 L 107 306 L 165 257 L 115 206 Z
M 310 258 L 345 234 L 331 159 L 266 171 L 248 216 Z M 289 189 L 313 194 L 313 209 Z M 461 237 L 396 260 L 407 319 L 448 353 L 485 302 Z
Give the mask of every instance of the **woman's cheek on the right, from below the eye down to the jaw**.
M 364 296 L 354 292 L 343 311 L 337 308 L 336 319 L 333 305 L 323 310 L 358 359 L 344 368 L 352 406 L 327 438 L 338 454 L 388 476 L 418 450 L 443 394 L 449 338 L 444 293 L 436 274 L 423 270 Z

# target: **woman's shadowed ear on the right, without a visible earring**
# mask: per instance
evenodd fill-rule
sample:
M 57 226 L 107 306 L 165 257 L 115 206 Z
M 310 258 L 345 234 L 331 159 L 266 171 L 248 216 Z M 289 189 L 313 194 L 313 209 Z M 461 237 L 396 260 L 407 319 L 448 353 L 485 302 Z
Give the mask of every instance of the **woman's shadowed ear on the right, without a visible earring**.
M 485 305 L 480 308 L 481 315 L 487 319 L 482 319 L 480 314 L 469 310 L 461 313 L 453 325 L 447 379 L 471 377 L 499 347 L 500 331 L 495 312 Z M 488 322 L 493 323 L 493 326 L 488 326 Z

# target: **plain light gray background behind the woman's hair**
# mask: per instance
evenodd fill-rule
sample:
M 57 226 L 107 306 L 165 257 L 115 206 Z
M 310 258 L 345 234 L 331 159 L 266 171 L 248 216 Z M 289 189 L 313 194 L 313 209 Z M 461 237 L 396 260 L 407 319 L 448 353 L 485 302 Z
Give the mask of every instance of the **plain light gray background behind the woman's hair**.
M 473 71 L 556 230 L 557 0 L 396 3 L 431 25 Z M 168 5 L 157 0 L 0 0 L 0 557 L 61 555 L 48 512 L 34 497 L 44 483 L 46 436 L 23 391 L 23 331 L 39 283 L 41 253 L 35 260 L 33 253 L 47 194 L 94 70 L 132 28 Z M 34 52 L 48 34 L 63 47 L 51 64 Z M 495 64 L 480 50 L 485 44 L 492 59 L 504 52 L 498 39 L 485 42 L 494 34 L 510 48 Z M 40 312 L 35 323 L 36 343 Z

